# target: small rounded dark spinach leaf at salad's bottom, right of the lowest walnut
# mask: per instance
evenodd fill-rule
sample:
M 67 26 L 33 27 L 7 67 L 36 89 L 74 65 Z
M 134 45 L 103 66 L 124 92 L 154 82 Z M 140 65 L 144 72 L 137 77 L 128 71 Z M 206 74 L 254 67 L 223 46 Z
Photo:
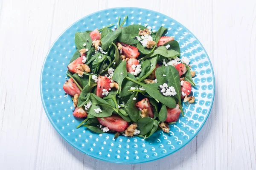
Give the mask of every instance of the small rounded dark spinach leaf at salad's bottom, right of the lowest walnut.
M 143 117 L 137 122 L 137 128 L 140 130 L 140 135 L 147 134 L 150 130 L 152 130 L 154 124 L 154 119 L 150 117 Z

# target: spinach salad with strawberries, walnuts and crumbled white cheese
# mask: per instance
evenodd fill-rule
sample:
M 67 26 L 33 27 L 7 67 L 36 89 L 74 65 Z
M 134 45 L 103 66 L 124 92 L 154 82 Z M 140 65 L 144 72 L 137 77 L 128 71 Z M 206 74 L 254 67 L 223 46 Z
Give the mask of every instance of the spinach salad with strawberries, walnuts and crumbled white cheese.
M 195 102 L 190 95 L 195 72 L 174 37 L 164 36 L 167 28 L 123 27 L 126 19 L 76 32 L 65 97 L 73 96 L 73 116 L 84 119 L 77 128 L 115 133 L 115 138 L 169 133 L 169 124 L 184 116 L 182 102 Z

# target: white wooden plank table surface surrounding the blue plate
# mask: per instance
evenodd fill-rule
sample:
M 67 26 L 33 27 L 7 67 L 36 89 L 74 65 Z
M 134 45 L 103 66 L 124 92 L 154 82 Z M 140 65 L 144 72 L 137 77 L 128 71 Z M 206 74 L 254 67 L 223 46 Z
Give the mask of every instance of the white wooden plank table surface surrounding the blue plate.
M 39 78 L 54 40 L 76 20 L 105 8 L 166 14 L 204 45 L 215 73 L 215 102 L 198 135 L 166 158 L 112 164 L 64 141 L 41 104 Z M 256 1 L 0 0 L 0 169 L 256 169 Z

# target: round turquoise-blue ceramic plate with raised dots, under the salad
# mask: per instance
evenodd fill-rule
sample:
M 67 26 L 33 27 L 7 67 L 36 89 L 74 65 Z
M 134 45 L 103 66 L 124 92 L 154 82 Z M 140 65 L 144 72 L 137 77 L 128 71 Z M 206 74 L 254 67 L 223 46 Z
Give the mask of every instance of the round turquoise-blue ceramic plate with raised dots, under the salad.
M 124 26 L 148 23 L 153 30 L 168 28 L 167 36 L 175 37 L 180 44 L 181 56 L 188 57 L 196 72 L 192 88 L 194 104 L 183 105 L 185 117 L 170 126 L 170 133 L 158 131 L 144 140 L 140 137 L 97 134 L 86 127 L 76 129 L 82 121 L 73 117 L 73 101 L 64 97 L 67 65 L 76 51 L 76 31 L 103 28 L 117 23 L 118 17 L 128 19 Z M 112 27 L 113 28 L 113 27 Z M 209 57 L 198 39 L 183 25 L 164 14 L 143 8 L 111 8 L 90 14 L 67 28 L 49 50 L 41 72 L 41 99 L 44 110 L 58 133 L 81 152 L 104 161 L 134 164 L 153 161 L 168 156 L 185 146 L 203 127 L 214 99 L 214 75 Z

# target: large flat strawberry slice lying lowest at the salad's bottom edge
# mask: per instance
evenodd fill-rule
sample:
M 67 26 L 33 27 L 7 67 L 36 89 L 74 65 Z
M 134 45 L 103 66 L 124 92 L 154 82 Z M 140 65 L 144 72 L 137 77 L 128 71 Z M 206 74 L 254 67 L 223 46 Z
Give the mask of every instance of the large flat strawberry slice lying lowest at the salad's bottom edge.
M 97 117 L 97 119 L 100 124 L 108 127 L 108 129 L 112 131 L 122 132 L 122 131 L 125 131 L 125 129 L 128 127 L 128 122 L 122 119 L 121 116 L 118 116 L 115 114 L 108 117 L 104 117 L 103 118 L 104 120 L 102 120 L 99 117 Z

